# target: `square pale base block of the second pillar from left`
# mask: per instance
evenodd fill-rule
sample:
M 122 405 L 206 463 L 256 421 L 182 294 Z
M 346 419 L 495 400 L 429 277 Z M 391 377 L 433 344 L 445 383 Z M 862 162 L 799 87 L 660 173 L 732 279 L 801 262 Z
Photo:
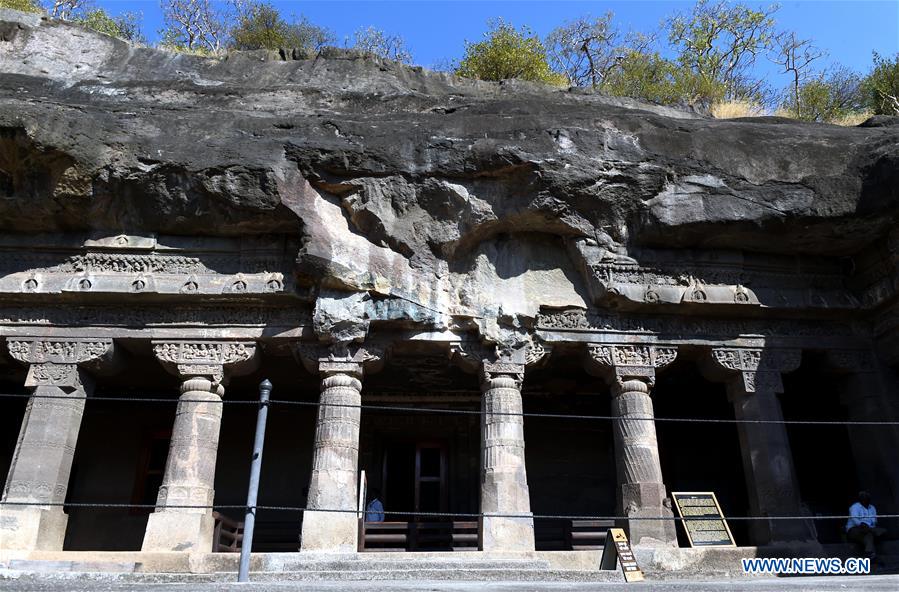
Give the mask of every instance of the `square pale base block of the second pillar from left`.
M 147 521 L 141 551 L 210 553 L 214 529 L 212 512 L 155 512 Z

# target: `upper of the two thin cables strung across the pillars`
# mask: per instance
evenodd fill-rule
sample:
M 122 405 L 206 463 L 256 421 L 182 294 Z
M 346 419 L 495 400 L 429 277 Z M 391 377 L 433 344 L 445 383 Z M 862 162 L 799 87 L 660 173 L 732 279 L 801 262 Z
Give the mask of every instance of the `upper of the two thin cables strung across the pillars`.
M 77 399 L 84 400 L 84 397 L 75 397 L 71 395 L 38 395 L 29 393 L 0 393 L 0 398 L 39 398 L 39 399 Z M 243 400 L 213 400 L 205 399 L 180 399 L 161 398 L 161 397 L 91 397 L 92 401 L 112 401 L 112 402 L 130 402 L 130 403 L 206 403 L 206 404 L 238 404 L 238 405 L 254 405 L 258 406 L 259 401 L 243 401 Z M 368 411 L 398 411 L 404 413 L 435 413 L 444 415 L 485 415 L 485 411 L 477 409 L 445 409 L 439 407 L 408 407 L 405 405 L 351 405 L 348 403 L 320 403 L 318 401 L 288 401 L 272 399 L 270 405 L 296 405 L 305 407 L 346 407 L 352 409 L 362 409 Z M 515 417 L 540 417 L 545 419 L 580 419 L 594 421 L 654 421 L 669 423 L 710 423 L 710 424 L 756 424 L 756 425 L 819 425 L 819 426 L 899 426 L 899 421 L 872 420 L 872 421 L 836 421 L 836 420 L 805 420 L 805 419 L 724 419 L 724 418 L 708 418 L 708 417 L 619 417 L 615 415 L 582 415 L 568 413 L 526 413 L 514 411 L 492 411 L 492 416 L 515 416 Z

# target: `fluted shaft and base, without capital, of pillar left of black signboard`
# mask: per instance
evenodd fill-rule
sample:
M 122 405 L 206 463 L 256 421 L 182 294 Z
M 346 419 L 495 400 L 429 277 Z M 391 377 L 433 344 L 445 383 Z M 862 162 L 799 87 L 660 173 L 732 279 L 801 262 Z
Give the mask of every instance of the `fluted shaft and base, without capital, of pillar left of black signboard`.
M 666 503 L 668 495 L 649 391 L 649 382 L 629 378 L 620 380 L 612 393 L 620 507 L 629 518 L 672 516 Z M 631 520 L 629 529 L 635 544 L 668 544 L 677 540 L 674 522 L 670 520 Z

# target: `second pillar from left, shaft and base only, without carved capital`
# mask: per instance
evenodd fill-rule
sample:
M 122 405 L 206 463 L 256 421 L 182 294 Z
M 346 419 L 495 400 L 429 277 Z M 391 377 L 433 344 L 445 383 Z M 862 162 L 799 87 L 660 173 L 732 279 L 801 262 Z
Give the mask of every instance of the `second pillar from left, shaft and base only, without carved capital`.
M 169 455 L 156 511 L 144 533 L 144 551 L 212 551 L 211 506 L 225 389 L 204 377 L 181 383 Z

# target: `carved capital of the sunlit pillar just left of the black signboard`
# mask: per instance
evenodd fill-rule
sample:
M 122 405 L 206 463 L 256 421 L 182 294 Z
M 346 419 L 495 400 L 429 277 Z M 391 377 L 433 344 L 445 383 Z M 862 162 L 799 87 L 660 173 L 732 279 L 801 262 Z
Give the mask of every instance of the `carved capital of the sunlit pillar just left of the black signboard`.
M 618 391 L 622 383 L 634 380 L 651 388 L 655 384 L 656 370 L 677 358 L 676 347 L 659 345 L 591 343 L 587 353 L 587 369 L 614 379 Z

